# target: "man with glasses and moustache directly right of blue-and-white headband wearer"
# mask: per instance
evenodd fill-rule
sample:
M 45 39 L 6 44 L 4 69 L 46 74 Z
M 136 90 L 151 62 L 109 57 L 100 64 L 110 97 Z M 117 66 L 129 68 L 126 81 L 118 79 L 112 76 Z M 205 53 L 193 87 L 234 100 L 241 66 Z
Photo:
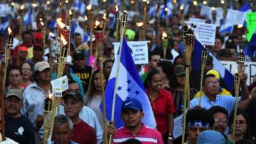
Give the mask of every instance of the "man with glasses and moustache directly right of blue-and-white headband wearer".
M 209 113 L 214 120 L 211 129 L 223 134 L 225 144 L 233 144 L 233 142 L 228 139 L 228 136 L 225 135 L 228 126 L 228 111 L 221 106 L 212 106 L 212 108 L 209 109 Z

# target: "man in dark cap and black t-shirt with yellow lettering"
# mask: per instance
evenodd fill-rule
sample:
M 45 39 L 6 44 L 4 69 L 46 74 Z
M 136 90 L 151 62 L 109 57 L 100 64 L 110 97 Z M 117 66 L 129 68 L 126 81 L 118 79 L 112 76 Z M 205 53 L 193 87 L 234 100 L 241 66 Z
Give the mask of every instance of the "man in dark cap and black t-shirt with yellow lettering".
M 85 55 L 83 51 L 74 51 L 73 53 L 73 63 L 71 66 L 74 74 L 79 77 L 83 84 L 83 90 L 86 92 L 90 83 L 90 76 L 92 72 L 92 67 L 84 65 Z

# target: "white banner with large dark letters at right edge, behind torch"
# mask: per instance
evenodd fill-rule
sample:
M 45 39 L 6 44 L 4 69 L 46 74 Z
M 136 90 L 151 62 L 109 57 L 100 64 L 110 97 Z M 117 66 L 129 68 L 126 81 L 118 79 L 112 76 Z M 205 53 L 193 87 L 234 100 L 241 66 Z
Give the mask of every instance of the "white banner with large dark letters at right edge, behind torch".
M 220 61 L 222 65 L 227 68 L 233 75 L 237 72 L 236 61 Z M 253 76 L 256 75 L 256 62 L 244 62 L 244 72 L 248 75 L 246 84 L 250 85 L 253 83 Z

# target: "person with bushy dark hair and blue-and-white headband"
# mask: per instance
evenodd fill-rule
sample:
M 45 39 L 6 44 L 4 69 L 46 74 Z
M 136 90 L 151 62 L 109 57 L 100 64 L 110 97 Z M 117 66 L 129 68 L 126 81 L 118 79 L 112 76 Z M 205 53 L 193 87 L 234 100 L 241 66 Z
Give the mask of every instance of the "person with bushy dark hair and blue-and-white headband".
M 188 141 L 185 144 L 196 144 L 199 134 L 209 130 L 212 123 L 212 117 L 206 109 L 190 109 L 186 114 Z

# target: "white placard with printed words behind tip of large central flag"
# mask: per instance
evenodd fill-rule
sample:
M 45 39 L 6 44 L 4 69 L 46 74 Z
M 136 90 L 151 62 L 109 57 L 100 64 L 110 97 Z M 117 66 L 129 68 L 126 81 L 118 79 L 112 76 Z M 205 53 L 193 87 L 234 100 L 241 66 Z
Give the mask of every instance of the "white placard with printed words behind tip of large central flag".
M 127 45 L 132 51 L 132 58 L 135 65 L 148 63 L 148 42 L 149 41 L 127 42 Z M 115 60 L 117 60 L 120 43 L 114 42 L 113 45 L 115 50 Z

